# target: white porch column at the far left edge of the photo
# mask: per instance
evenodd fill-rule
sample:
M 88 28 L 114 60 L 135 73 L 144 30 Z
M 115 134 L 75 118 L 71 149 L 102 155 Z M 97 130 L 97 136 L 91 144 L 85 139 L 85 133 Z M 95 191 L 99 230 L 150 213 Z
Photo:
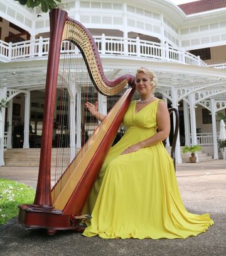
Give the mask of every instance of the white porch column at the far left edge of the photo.
M 0 90 L 0 101 L 6 99 L 6 88 Z M 0 110 L 0 166 L 4 165 L 4 123 L 5 123 L 6 108 Z

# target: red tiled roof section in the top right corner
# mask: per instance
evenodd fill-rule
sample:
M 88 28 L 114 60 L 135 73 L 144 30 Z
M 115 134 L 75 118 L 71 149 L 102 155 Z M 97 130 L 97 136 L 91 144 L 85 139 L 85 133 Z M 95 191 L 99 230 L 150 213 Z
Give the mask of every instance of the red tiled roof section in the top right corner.
M 226 0 L 200 0 L 178 5 L 186 15 L 226 7 Z

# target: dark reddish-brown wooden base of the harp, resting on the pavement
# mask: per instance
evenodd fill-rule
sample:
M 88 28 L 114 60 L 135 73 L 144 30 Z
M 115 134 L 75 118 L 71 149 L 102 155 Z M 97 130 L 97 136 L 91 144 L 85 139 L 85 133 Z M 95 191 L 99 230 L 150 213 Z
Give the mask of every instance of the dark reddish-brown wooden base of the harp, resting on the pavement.
M 44 228 L 48 235 L 54 235 L 57 230 L 75 230 L 82 232 L 80 221 L 72 215 L 65 215 L 58 209 L 41 209 L 31 204 L 19 206 L 18 221 L 26 228 Z

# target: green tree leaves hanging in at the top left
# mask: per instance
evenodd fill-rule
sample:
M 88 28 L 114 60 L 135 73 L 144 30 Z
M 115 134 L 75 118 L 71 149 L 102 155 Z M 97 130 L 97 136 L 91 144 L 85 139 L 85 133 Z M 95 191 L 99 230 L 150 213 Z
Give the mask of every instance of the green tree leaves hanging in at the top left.
M 28 8 L 34 9 L 36 6 L 39 6 L 41 8 L 41 11 L 43 13 L 47 13 L 47 11 L 51 11 L 51 9 L 54 9 L 58 7 L 58 3 L 61 3 L 61 0 L 15 0 L 19 1 L 21 5 L 26 5 Z M 58 3 L 56 3 L 58 2 Z

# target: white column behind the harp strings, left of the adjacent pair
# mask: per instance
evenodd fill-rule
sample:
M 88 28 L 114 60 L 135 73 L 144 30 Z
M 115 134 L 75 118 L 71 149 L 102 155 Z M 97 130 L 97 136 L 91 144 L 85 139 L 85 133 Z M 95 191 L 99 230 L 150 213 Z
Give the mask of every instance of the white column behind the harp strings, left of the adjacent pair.
M 70 161 L 76 155 L 76 119 L 75 119 L 75 96 L 70 98 Z

